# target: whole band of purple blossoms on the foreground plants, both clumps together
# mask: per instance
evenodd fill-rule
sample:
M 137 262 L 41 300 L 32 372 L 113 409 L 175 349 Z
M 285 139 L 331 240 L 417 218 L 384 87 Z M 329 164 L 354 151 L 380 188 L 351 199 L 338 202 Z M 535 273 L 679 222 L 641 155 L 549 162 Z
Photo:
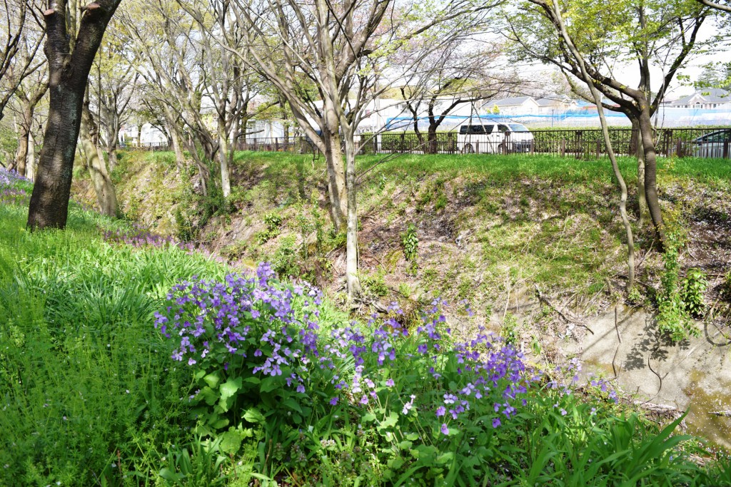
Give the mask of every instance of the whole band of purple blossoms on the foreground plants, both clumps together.
M 320 291 L 281 283 L 268 264 L 223 282 L 183 281 L 167 299 L 155 326 L 175 340 L 176 361 L 206 372 L 222 367 L 229 377 L 281 377 L 298 393 L 317 374 L 326 377 L 319 384 L 332 406 L 393 407 L 404 421 L 428 412 L 437 433 L 454 434 L 459 428 L 450 423 L 492 412 L 488 424 L 497 428 L 526 404 L 520 396 L 537 380 L 522 353 L 482 328 L 474 340 L 455 343 L 441 299 L 413 334 L 398 322 L 403 311 L 395 303 L 385 318 L 321 333 Z

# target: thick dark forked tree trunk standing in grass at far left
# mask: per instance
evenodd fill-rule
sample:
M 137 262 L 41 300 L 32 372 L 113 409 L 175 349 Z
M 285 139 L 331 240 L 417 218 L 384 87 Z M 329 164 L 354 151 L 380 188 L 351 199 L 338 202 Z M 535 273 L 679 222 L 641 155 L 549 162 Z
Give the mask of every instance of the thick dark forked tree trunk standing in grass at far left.
M 66 0 L 50 0 L 44 12 L 50 107 L 28 212 L 31 230 L 66 226 L 88 74 L 120 1 L 99 0 L 85 7 L 78 33 L 67 32 Z

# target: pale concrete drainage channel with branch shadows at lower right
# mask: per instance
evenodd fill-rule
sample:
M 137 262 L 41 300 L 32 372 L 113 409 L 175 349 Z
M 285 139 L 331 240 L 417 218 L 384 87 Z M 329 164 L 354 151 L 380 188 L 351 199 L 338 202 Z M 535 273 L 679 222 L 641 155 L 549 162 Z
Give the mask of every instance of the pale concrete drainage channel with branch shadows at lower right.
M 651 410 L 689 409 L 689 434 L 731 448 L 731 329 L 708 324 L 701 337 L 672 345 L 659 336 L 653 315 L 622 304 L 588 329 L 561 344 L 580 356 L 585 375 L 616 377 L 637 401 L 653 404 Z

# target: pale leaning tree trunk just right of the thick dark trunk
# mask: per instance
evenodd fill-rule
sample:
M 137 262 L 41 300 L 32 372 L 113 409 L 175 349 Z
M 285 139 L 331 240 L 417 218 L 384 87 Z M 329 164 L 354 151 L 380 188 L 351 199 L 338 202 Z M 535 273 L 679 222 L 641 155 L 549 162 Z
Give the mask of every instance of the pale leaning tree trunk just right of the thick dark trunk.
M 91 112 L 88 107 L 84 107 L 81 116 L 80 139 L 86 157 L 86 168 L 91 176 L 91 182 L 94 183 L 99 211 L 102 212 L 102 215 L 113 217 L 117 215 L 117 194 L 107 172 L 107 166 L 104 164 L 104 154 L 94 140 L 94 133 L 96 133 L 96 127 L 94 120 L 91 119 Z

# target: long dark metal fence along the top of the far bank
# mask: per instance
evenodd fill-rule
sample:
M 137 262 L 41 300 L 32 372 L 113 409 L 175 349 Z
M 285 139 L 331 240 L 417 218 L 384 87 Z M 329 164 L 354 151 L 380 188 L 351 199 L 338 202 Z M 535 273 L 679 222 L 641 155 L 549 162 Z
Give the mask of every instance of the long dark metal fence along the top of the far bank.
M 610 129 L 614 152 L 620 156 L 637 153 L 637 137 L 633 129 Z M 499 137 L 468 139 L 456 132 L 438 132 L 436 138 L 413 132 L 359 134 L 355 146 L 360 154 L 381 153 L 523 153 L 543 154 L 578 159 L 607 156 L 607 147 L 599 129 L 536 129 L 530 135 L 516 132 Z M 167 144 L 128 146 L 143 150 L 170 150 Z M 236 150 L 265 152 L 312 153 L 317 147 L 307 137 L 249 139 L 236 144 Z M 655 150 L 659 156 L 731 157 L 731 128 L 657 129 Z

